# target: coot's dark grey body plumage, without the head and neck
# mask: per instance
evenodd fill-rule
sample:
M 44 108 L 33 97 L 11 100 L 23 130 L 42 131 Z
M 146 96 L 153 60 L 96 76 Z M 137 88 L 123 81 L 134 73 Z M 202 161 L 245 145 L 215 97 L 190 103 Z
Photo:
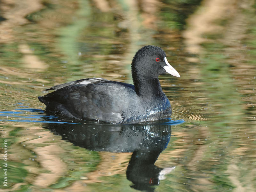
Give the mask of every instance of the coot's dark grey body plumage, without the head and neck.
M 46 90 L 55 91 L 39 100 L 48 111 L 68 118 L 131 124 L 164 119 L 172 113 L 165 95 L 161 103 L 144 100 L 136 94 L 134 85 L 102 78 L 81 79 Z

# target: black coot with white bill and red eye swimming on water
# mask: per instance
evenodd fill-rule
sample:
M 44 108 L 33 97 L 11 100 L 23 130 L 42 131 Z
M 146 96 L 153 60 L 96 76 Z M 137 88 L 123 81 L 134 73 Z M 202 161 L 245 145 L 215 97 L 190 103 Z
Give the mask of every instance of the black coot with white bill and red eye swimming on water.
M 171 104 L 158 76 L 180 77 L 165 52 L 152 45 L 142 47 L 132 60 L 132 84 L 88 78 L 55 85 L 38 99 L 52 114 L 113 124 L 135 124 L 171 116 Z

